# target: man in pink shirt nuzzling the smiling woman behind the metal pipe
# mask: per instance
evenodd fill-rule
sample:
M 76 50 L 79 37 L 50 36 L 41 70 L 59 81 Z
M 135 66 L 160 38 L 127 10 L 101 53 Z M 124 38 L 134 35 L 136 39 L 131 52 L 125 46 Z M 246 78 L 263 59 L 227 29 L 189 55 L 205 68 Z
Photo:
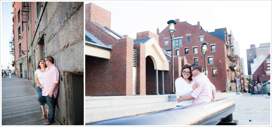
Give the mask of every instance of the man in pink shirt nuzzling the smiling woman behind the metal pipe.
M 193 93 L 186 97 L 179 97 L 177 102 L 182 100 L 192 100 L 193 104 L 210 102 L 215 100 L 215 87 L 208 77 L 202 72 L 202 66 L 199 63 L 191 65 L 191 73 L 195 77 L 195 82 L 200 83 L 199 87 L 193 90 Z M 213 98 L 213 99 L 212 99 Z

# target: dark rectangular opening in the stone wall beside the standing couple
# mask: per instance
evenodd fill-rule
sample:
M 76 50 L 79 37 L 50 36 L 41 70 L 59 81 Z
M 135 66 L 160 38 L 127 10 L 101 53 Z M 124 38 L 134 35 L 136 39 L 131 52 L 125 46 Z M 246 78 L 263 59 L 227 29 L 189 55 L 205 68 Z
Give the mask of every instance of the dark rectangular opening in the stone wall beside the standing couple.
M 83 74 L 73 73 L 72 76 L 72 101 L 74 125 L 84 125 L 84 81 Z

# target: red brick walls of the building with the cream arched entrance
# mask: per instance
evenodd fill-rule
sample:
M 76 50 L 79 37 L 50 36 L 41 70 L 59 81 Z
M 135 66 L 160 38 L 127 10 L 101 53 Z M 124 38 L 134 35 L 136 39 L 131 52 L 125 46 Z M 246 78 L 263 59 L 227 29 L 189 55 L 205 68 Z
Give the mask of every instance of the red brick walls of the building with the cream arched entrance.
M 116 39 L 89 19 L 91 8 L 98 6 L 89 3 L 85 5 L 85 29 L 106 45 L 112 45 L 110 59 L 102 59 L 85 56 L 85 95 L 86 96 L 111 96 L 133 94 L 133 49 L 137 50 L 137 86 L 136 94 L 155 94 L 155 70 L 154 61 L 150 56 L 146 57 L 146 45 L 143 43 L 133 44 L 133 40 L 125 35 L 125 38 Z M 104 12 L 101 12 L 103 14 Z M 105 12 L 107 13 L 107 12 Z M 92 20 L 92 19 L 91 19 Z M 92 20 L 93 21 L 93 20 Z M 108 20 L 110 21 L 110 20 Z M 108 22 L 107 21 L 107 22 Z M 94 21 L 98 23 L 98 21 Z M 100 24 L 100 23 L 98 23 Z M 110 23 L 106 23 L 110 24 Z M 101 24 L 100 24 L 101 25 Z M 103 25 L 102 25 L 103 26 Z M 150 31 L 137 33 L 137 39 L 155 37 L 159 42 L 159 35 Z M 160 48 L 158 50 L 161 50 Z M 170 94 L 172 90 L 171 57 L 164 54 L 170 61 L 169 71 L 164 71 L 164 93 Z M 177 79 L 180 76 L 182 61 L 181 57 L 174 57 L 174 70 Z M 158 64 L 158 63 L 157 63 Z M 158 90 L 162 93 L 162 71 L 158 70 Z

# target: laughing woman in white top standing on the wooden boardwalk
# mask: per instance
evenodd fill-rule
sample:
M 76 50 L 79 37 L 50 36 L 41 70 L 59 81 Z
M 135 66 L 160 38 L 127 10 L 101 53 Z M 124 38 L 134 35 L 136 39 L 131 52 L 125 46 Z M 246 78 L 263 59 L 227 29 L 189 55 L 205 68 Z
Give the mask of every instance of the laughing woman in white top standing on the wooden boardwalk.
M 37 83 L 37 90 L 38 90 L 38 96 L 42 94 L 41 92 L 43 91 L 43 85 L 44 85 L 44 78 L 45 78 L 45 72 L 48 70 L 48 67 L 45 65 L 45 61 L 41 59 L 38 63 L 38 69 L 35 72 L 35 81 Z M 44 103 L 41 103 L 41 109 L 43 111 L 42 119 L 46 119 L 45 117 L 45 112 L 44 112 Z M 48 114 L 48 109 L 46 110 L 47 112 L 47 117 L 49 116 Z

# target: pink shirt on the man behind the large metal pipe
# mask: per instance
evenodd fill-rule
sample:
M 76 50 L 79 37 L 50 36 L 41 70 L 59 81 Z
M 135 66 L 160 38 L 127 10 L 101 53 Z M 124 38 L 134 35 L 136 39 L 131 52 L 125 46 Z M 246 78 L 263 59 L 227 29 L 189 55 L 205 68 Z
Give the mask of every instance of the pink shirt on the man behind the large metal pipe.
M 215 90 L 215 87 L 210 82 L 208 77 L 202 72 L 201 74 L 195 76 L 195 82 L 200 84 L 199 87 L 193 90 L 193 93 L 191 94 L 191 96 L 195 98 L 193 99 L 193 104 L 211 101 L 212 90 Z

